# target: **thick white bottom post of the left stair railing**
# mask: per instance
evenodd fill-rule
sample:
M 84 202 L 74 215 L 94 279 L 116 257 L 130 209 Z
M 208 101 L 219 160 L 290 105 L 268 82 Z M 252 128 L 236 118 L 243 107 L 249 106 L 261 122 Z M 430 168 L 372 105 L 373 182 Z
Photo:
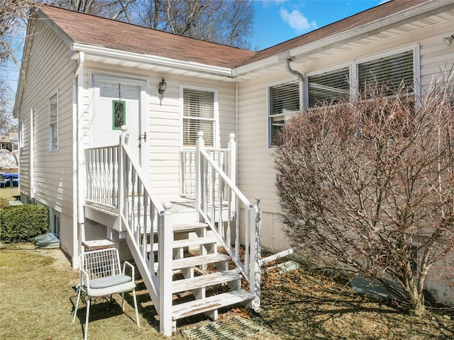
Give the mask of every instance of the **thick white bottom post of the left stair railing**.
M 159 319 L 160 332 L 165 336 L 172 335 L 172 243 L 173 227 L 170 215 L 170 202 L 164 203 L 164 215 L 160 216 L 157 225 L 157 249 L 159 268 L 157 272 L 159 291 Z

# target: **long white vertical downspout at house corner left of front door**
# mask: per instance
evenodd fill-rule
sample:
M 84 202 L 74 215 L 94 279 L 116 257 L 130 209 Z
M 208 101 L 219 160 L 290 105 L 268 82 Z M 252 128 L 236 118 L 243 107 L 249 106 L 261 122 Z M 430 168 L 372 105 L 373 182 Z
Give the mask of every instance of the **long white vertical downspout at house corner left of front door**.
M 74 69 L 73 78 L 73 115 L 72 126 L 74 149 L 73 159 L 75 171 L 73 174 L 74 193 L 73 193 L 73 268 L 78 268 L 79 251 L 81 250 L 82 240 L 84 239 L 84 125 L 83 125 L 83 86 L 84 86 L 84 52 L 79 52 L 77 67 Z M 79 232 L 80 228 L 80 232 Z

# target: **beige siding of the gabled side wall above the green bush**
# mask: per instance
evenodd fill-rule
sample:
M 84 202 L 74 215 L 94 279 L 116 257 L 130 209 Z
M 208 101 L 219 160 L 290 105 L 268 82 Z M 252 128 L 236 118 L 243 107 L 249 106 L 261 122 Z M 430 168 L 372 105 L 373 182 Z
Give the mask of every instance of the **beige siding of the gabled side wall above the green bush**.
M 60 215 L 62 249 L 72 254 L 73 247 L 73 167 L 72 167 L 72 71 L 75 63 L 68 59 L 68 47 L 38 21 L 19 119 L 24 122 L 21 149 L 21 193 L 30 199 L 35 188 L 35 202 Z M 49 98 L 58 91 L 58 149 L 49 151 Z M 30 140 L 30 113 L 34 111 L 34 138 Z M 30 150 L 34 149 L 33 169 Z M 30 183 L 33 171 L 33 183 Z

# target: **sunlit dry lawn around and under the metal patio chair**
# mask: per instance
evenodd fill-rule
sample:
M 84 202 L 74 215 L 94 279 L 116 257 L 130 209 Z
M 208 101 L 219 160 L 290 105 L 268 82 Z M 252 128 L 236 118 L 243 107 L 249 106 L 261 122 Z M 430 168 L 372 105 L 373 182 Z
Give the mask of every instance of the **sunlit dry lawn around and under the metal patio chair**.
M 72 323 L 79 272 L 60 250 L 1 245 L 0 271 L 0 339 L 83 339 L 84 303 Z M 126 314 L 118 303 L 96 300 L 90 311 L 89 339 L 165 339 L 146 307 L 140 308 L 141 327 L 137 327 L 132 297 L 125 296 Z M 119 295 L 114 298 L 121 302 Z M 150 297 L 140 292 L 138 300 L 144 299 Z

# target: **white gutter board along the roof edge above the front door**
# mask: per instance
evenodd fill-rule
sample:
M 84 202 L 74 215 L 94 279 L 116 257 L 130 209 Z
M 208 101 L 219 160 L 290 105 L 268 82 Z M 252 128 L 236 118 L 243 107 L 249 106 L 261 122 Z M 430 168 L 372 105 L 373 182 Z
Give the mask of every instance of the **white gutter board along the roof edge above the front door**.
M 80 51 L 85 52 L 88 55 L 99 55 L 101 57 L 109 57 L 114 60 L 141 62 L 143 64 L 155 64 L 157 66 L 187 69 L 189 71 L 216 74 L 223 77 L 232 77 L 232 69 L 229 69 L 228 67 L 216 67 L 207 64 L 200 64 L 197 62 L 182 62 L 181 60 L 160 57 L 157 55 L 142 55 L 140 53 L 112 50 L 106 47 L 84 45 L 79 42 L 73 42 L 71 49 L 74 52 Z

